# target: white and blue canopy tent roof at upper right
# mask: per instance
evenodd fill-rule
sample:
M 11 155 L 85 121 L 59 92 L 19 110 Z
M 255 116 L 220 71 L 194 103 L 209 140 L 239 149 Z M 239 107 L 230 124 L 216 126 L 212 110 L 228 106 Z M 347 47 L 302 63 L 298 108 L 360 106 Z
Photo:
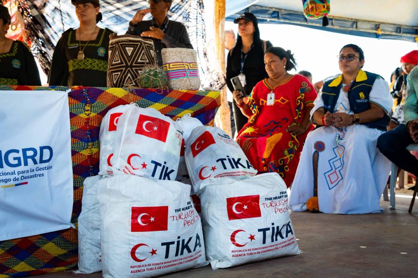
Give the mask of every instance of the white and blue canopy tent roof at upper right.
M 244 11 L 254 13 L 260 23 L 292 24 L 371 38 L 418 40 L 418 0 L 330 0 L 326 27 L 322 27 L 321 19 L 305 18 L 301 0 L 226 0 L 226 20 L 233 20 Z

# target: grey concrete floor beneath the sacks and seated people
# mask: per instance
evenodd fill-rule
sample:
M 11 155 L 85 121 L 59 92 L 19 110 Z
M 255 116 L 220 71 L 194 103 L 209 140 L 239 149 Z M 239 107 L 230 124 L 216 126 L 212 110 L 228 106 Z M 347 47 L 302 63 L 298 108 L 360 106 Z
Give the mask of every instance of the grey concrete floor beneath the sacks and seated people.
M 402 194 L 412 192 L 403 190 Z M 408 213 L 410 202 L 410 198 L 398 197 L 396 209 L 390 210 L 389 202 L 381 201 L 385 211 L 379 214 L 293 212 L 292 222 L 303 254 L 230 269 L 212 270 L 208 266 L 163 277 L 417 278 L 418 200 L 412 214 Z M 64 272 L 38 277 L 100 278 L 102 273 Z

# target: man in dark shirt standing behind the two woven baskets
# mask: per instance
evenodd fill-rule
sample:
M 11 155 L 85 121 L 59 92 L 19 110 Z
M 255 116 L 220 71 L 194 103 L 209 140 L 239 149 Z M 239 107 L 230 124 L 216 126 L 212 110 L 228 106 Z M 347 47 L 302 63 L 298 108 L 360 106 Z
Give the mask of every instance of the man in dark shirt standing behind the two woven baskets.
M 149 38 L 154 41 L 155 55 L 159 66 L 163 65 L 161 49 L 192 48 L 186 27 L 167 17 L 172 0 L 150 0 L 150 8 L 138 10 L 129 22 L 126 34 Z M 145 14 L 151 12 L 151 20 L 142 20 Z

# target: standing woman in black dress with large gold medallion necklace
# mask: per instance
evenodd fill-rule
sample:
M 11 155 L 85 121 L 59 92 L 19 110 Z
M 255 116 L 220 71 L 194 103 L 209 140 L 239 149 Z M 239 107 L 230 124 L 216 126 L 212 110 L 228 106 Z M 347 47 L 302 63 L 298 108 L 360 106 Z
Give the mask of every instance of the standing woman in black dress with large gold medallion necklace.
M 102 20 L 99 0 L 72 0 L 80 21 L 78 29 L 65 31 L 58 41 L 48 76 L 50 86 L 106 87 L 110 30 Z

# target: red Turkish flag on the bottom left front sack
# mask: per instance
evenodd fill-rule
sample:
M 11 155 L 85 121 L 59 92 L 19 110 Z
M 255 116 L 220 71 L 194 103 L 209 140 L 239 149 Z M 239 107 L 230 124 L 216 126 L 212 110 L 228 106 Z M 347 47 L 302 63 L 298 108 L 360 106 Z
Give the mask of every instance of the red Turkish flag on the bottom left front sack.
M 131 232 L 167 231 L 168 206 L 131 209 Z

